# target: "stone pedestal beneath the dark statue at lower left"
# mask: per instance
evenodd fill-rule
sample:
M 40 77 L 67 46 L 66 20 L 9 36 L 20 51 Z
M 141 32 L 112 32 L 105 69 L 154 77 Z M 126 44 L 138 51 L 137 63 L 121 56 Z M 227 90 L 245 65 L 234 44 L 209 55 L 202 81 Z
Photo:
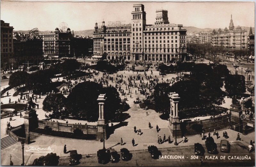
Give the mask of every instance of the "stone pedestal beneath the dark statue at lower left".
M 31 132 L 37 127 L 38 127 L 38 120 L 37 120 L 36 110 L 31 109 L 29 111 L 26 111 L 24 114 L 24 128 L 25 128 L 27 144 L 29 144 L 30 142 L 29 132 Z

